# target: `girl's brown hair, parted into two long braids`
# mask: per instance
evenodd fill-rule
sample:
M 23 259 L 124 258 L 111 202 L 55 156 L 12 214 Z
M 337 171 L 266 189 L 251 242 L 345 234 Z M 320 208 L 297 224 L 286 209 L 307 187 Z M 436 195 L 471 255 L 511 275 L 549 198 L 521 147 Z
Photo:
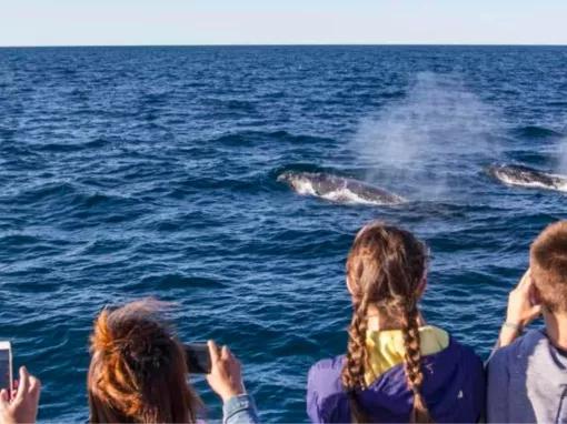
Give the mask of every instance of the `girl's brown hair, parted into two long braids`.
M 406 350 L 404 366 L 414 393 L 410 422 L 432 422 L 420 392 L 424 374 L 417 303 L 425 270 L 425 246 L 408 231 L 375 222 L 362 228 L 355 239 L 347 259 L 347 284 L 352 294 L 354 313 L 341 373 L 355 423 L 369 421 L 357 400 L 357 390 L 367 388 L 365 371 L 370 369 L 366 349 L 370 305 L 401 330 Z

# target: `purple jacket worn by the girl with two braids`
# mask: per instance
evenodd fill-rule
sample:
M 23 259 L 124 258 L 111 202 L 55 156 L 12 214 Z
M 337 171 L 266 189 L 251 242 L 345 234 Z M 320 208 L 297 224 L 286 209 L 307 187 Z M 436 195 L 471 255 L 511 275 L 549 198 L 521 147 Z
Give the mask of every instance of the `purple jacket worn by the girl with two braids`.
M 348 396 L 340 381 L 344 360 L 344 355 L 322 360 L 309 370 L 307 414 L 314 423 L 350 422 Z M 472 350 L 451 337 L 445 350 L 422 357 L 421 370 L 421 394 L 435 422 L 475 423 L 483 417 L 485 374 Z M 407 387 L 404 364 L 388 370 L 357 395 L 374 422 L 409 421 L 414 395 Z

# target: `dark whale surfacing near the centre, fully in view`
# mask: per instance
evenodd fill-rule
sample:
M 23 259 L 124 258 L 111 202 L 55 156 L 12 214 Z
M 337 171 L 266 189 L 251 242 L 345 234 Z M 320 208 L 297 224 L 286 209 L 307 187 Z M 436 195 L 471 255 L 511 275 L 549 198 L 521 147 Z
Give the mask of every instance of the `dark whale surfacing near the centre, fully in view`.
M 406 202 L 402 196 L 381 188 L 327 172 L 285 171 L 277 180 L 288 184 L 298 194 L 337 203 L 387 205 Z

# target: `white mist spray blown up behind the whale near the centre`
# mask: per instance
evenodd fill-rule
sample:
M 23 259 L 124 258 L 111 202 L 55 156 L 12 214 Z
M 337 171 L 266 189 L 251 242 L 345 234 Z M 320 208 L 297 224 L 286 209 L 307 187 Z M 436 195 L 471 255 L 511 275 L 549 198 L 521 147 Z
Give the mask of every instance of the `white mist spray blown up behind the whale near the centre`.
M 449 188 L 447 173 L 478 172 L 499 153 L 490 137 L 496 115 L 458 77 L 419 73 L 401 101 L 362 120 L 351 148 L 379 170 L 381 183 L 395 189 L 412 179 L 418 184 L 411 183 L 411 191 L 430 199 Z

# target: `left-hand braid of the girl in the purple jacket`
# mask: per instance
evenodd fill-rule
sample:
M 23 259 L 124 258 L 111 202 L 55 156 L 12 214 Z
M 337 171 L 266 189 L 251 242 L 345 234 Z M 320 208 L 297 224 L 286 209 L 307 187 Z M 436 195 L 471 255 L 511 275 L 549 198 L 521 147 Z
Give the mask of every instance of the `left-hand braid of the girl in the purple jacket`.
M 365 367 L 368 363 L 368 352 L 366 350 L 367 310 L 368 296 L 365 295 L 358 305 L 355 304 L 352 321 L 348 330 L 347 359 L 341 372 L 342 385 L 348 392 L 351 420 L 355 423 L 368 422 L 368 416 L 356 396 L 357 388 L 366 388 Z

